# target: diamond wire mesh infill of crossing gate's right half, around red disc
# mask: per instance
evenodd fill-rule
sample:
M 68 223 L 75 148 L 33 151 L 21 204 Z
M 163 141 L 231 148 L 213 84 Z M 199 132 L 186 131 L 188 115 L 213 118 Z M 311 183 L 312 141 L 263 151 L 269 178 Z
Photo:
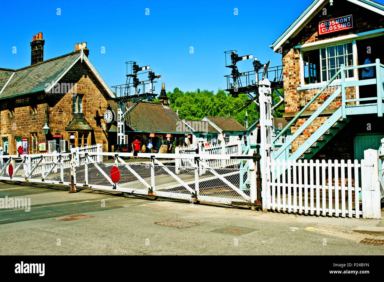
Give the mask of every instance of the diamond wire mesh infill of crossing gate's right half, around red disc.
M 183 162 L 182 162 L 183 164 Z M 111 168 L 119 168 L 120 178 L 116 191 L 130 193 L 148 193 L 152 187 L 152 165 L 139 163 L 84 163 L 79 162 L 75 167 L 76 185 L 88 185 L 112 190 Z M 153 167 L 153 190 L 156 196 L 180 198 L 214 203 L 231 204 L 250 201 L 250 178 L 248 169 L 238 168 L 202 168 L 176 167 L 175 165 L 158 165 Z M 133 171 L 133 172 L 132 172 Z M 195 182 L 198 174 L 198 191 Z M 137 177 L 139 175 L 139 179 Z

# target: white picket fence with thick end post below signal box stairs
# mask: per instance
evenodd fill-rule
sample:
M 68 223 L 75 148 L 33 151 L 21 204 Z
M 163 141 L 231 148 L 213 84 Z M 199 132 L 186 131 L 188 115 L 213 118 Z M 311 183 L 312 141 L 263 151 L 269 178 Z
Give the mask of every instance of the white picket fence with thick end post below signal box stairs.
M 377 169 L 377 157 L 375 163 L 371 155 L 360 163 L 272 160 L 267 162 L 269 179 L 263 181 L 267 186 L 266 208 L 311 215 L 380 218 L 378 173 L 376 183 L 371 169 Z

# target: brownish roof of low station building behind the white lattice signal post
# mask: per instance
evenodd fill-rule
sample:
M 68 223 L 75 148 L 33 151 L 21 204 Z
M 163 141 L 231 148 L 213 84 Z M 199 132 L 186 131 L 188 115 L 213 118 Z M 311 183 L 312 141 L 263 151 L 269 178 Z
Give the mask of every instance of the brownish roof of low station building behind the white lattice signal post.
M 117 103 L 108 101 L 116 114 L 116 122 L 111 125 L 109 131 L 117 131 Z M 132 106 L 132 102 L 127 102 Z M 142 101 L 131 110 L 125 120 L 126 132 L 159 132 L 159 133 L 189 133 L 182 126 L 182 121 L 170 107 L 164 107 L 161 103 Z

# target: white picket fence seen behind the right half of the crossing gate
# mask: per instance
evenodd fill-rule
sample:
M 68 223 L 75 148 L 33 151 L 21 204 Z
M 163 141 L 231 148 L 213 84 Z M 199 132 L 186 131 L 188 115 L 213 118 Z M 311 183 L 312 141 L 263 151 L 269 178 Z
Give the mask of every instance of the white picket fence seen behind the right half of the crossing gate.
M 210 145 L 209 147 L 203 146 L 204 144 L 199 144 L 199 153 L 209 154 L 209 155 L 241 155 L 242 154 L 242 143 L 223 143 L 222 145 Z M 194 154 L 196 153 L 196 146 L 187 147 L 187 148 L 175 148 L 175 154 Z M 179 162 L 179 167 L 194 167 L 194 160 L 191 159 L 177 159 Z M 236 165 L 237 160 L 204 160 L 205 164 L 210 168 L 226 168 Z

